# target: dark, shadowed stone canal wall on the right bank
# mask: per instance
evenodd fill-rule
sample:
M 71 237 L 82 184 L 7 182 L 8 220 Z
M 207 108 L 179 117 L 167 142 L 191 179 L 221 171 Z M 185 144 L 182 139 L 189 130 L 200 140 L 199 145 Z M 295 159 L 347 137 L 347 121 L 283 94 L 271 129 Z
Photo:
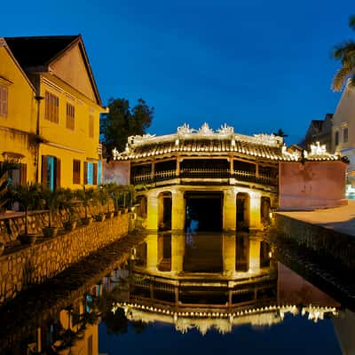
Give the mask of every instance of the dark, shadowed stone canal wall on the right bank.
M 278 237 L 296 241 L 329 262 L 336 261 L 347 268 L 355 269 L 355 238 L 332 229 L 276 214 Z

